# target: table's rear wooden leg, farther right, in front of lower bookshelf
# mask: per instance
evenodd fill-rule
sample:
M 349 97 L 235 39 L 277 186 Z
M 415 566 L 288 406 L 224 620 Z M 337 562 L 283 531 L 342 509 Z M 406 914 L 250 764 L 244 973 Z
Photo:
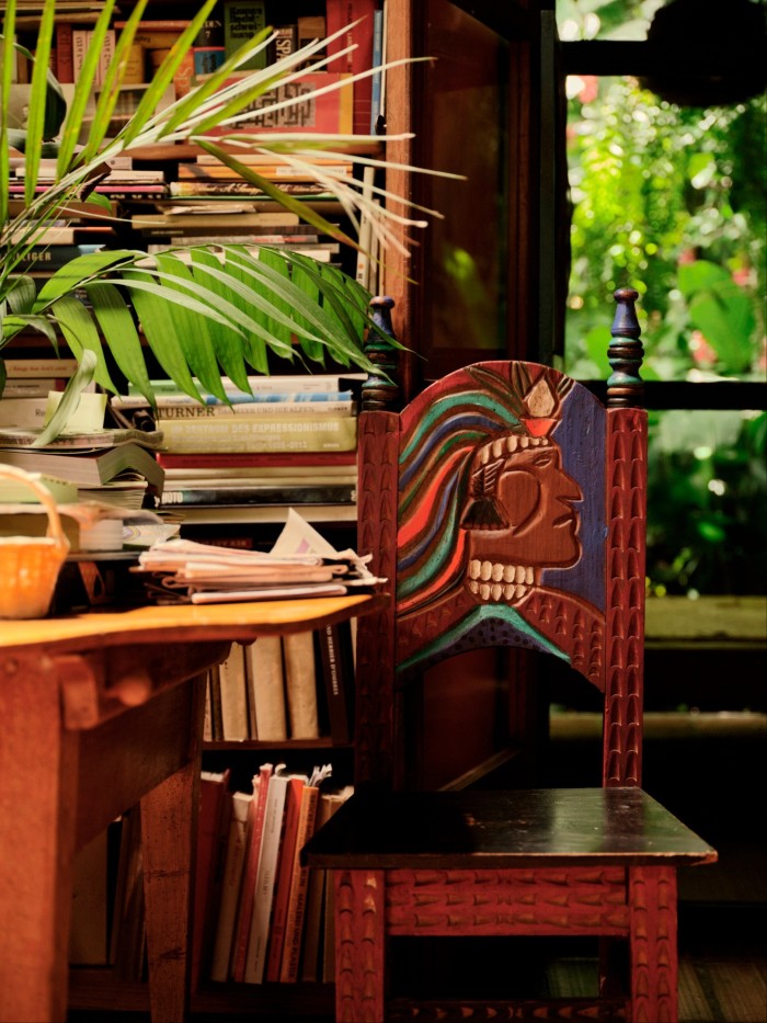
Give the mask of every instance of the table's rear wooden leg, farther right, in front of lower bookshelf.
M 190 686 L 190 763 L 141 799 L 151 1018 L 186 1019 L 205 678 Z

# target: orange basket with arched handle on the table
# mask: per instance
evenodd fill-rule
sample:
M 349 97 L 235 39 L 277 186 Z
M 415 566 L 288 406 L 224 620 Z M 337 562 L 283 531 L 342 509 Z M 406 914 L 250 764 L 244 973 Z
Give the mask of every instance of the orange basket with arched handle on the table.
M 69 552 L 56 502 L 28 473 L 0 465 L 0 478 L 26 484 L 48 513 L 46 536 L 0 536 L 0 618 L 43 618 Z

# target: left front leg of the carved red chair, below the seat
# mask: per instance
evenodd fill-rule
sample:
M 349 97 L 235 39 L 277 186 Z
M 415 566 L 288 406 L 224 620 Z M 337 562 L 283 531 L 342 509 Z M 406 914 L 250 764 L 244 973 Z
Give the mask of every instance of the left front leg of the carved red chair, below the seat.
M 384 1023 L 384 871 L 335 871 L 336 1023 Z

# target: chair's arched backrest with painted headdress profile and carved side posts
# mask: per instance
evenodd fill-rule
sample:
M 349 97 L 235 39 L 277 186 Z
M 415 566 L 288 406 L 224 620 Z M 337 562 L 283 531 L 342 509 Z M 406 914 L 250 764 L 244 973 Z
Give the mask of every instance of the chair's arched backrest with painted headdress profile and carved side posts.
M 603 781 L 640 783 L 645 434 L 643 410 L 515 361 L 362 414 L 359 549 L 392 593 L 362 623 L 360 696 L 379 707 L 362 777 L 390 764 L 394 689 L 463 650 L 515 646 L 564 658 L 604 694 Z

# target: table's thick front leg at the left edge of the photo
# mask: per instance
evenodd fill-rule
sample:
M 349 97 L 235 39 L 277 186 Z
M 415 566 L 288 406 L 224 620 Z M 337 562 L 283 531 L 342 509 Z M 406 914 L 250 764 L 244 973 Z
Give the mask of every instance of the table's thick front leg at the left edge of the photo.
M 0 1021 L 66 1019 L 79 739 L 38 652 L 0 655 Z

